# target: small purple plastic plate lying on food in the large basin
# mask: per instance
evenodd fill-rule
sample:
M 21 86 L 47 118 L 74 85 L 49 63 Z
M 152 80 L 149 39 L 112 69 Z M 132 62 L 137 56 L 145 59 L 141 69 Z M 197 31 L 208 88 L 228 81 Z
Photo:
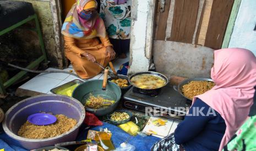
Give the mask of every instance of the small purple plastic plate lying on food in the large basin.
M 50 125 L 57 121 L 54 115 L 46 113 L 36 113 L 28 117 L 28 121 L 35 125 Z

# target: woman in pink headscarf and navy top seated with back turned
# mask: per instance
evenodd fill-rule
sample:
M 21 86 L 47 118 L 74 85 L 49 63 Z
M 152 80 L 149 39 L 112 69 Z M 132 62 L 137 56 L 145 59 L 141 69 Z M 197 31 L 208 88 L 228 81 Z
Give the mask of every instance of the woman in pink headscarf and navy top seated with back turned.
M 246 49 L 214 51 L 213 89 L 195 96 L 175 133 L 152 150 L 221 150 L 247 119 L 256 85 L 256 57 Z

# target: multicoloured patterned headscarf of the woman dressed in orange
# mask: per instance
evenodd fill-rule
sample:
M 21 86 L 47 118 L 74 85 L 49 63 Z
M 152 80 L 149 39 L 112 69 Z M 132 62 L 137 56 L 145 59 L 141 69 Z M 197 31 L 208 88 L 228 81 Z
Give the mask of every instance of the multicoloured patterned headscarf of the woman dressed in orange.
M 95 0 L 77 0 L 77 3 L 72 6 L 62 26 L 63 35 L 83 39 L 106 37 L 104 21 L 99 14 L 90 20 L 81 18 L 84 6 L 90 1 Z M 95 1 L 95 3 L 97 2 Z

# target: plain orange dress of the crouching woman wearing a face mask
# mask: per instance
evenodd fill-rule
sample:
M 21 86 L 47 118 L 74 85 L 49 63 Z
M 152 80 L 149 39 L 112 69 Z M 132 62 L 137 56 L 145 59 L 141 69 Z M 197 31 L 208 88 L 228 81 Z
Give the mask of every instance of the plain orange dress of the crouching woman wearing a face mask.
M 102 44 L 97 38 L 93 39 L 74 39 L 64 36 L 66 57 L 73 65 L 75 72 L 80 78 L 88 79 L 99 74 L 102 68 L 95 63 L 90 62 L 85 57 L 81 56 L 83 53 L 90 53 L 94 55 L 97 62 L 106 67 L 110 62 L 110 56 L 106 56 L 106 47 L 111 45 L 108 38 L 100 38 Z M 107 42 L 106 42 L 107 41 Z

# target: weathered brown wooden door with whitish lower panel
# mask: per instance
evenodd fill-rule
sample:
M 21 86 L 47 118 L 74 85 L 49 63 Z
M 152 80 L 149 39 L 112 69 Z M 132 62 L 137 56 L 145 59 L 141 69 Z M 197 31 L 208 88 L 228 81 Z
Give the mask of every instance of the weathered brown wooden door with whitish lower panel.
M 234 0 L 165 0 L 165 9 L 160 12 L 162 1 L 158 2 L 155 19 L 153 53 L 157 70 L 209 77 L 213 50 L 221 48 Z

